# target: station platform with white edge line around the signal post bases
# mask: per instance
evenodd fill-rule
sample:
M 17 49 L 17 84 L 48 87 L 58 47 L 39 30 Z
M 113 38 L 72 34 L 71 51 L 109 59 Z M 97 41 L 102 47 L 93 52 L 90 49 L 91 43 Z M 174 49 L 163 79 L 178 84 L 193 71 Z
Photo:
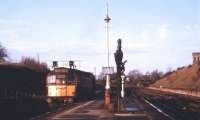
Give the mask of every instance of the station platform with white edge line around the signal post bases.
M 110 113 L 104 108 L 103 100 L 87 101 L 71 109 L 43 118 L 45 120 L 149 120 L 146 113 L 136 103 L 126 101 L 122 113 Z

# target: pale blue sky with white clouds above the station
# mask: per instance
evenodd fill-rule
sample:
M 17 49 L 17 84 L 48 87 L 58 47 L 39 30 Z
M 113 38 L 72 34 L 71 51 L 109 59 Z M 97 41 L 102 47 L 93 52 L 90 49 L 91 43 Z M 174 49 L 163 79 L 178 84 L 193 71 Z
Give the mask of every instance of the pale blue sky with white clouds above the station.
M 108 0 L 110 64 L 122 39 L 126 72 L 167 71 L 200 52 L 200 0 Z M 107 66 L 106 0 L 0 0 L 0 43 L 10 60 L 75 60 L 85 71 Z

